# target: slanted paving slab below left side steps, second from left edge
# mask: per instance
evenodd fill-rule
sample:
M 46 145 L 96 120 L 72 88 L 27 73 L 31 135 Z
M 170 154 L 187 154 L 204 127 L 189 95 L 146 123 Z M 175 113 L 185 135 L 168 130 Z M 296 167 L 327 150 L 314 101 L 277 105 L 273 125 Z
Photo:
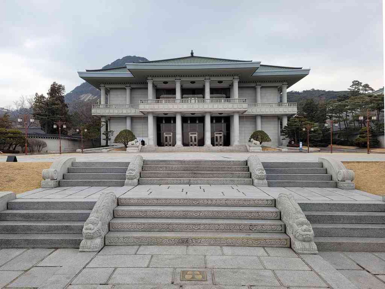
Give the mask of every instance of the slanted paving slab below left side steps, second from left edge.
M 28 270 L 34 266 L 37 262 L 42 260 L 44 257 L 48 256 L 53 252 L 54 249 L 29 249 L 5 265 L 0 267 L 0 271 L 10 271 L 10 270 Z

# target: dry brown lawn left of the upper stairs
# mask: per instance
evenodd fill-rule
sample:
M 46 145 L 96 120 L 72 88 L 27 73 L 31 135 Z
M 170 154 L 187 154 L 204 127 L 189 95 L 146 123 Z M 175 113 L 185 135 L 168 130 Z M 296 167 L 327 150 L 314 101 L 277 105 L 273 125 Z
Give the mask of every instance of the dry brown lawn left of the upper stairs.
M 17 194 L 40 188 L 41 171 L 52 163 L 0 163 L 0 191 Z

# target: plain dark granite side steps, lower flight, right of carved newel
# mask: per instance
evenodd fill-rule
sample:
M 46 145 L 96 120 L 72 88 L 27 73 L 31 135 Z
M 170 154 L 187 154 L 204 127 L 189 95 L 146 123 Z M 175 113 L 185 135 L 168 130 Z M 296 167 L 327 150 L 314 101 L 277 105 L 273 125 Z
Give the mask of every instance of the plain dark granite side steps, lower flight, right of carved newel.
M 385 203 L 301 202 L 318 251 L 384 252 Z

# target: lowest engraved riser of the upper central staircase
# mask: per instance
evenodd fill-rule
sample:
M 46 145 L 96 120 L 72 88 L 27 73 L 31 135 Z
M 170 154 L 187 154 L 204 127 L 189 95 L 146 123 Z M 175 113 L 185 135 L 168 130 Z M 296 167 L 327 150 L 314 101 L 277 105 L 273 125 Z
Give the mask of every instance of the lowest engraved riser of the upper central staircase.
M 224 185 L 252 185 L 252 179 L 155 179 L 140 178 L 139 184 L 224 184 Z

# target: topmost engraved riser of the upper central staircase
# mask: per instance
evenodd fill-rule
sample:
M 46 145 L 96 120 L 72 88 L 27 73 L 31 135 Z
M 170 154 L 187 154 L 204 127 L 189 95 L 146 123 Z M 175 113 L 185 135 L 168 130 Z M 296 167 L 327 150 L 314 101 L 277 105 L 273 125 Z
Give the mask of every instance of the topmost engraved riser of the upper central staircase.
M 144 160 L 144 165 L 247 165 L 247 162 L 224 160 Z

